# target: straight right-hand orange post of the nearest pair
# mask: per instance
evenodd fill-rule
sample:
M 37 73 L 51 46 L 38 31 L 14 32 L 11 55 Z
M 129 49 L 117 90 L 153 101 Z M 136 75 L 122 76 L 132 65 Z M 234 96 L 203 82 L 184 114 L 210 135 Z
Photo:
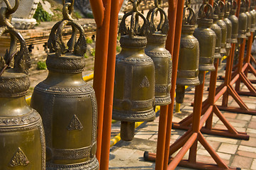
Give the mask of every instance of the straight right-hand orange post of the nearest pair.
M 106 70 L 106 94 L 104 105 L 104 123 L 101 142 L 101 170 L 108 170 L 109 150 L 111 140 L 111 120 L 113 109 L 113 85 L 116 67 L 116 37 L 118 29 L 119 3 L 122 0 L 111 0 L 111 18 L 108 40 L 108 63 Z

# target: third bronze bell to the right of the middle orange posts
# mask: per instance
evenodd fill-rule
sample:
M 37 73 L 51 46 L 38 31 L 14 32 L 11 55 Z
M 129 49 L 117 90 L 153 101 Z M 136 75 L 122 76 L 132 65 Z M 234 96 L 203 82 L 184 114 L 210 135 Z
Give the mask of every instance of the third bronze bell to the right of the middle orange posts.
M 221 27 L 218 26 L 218 4 L 213 2 L 213 25 L 211 25 L 211 29 L 216 34 L 216 46 L 214 52 L 214 58 L 221 58 Z

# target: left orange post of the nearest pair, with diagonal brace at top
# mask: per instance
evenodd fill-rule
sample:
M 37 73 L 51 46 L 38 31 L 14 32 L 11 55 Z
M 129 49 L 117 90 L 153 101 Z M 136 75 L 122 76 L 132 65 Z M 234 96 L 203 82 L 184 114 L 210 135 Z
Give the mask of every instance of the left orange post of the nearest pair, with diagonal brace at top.
M 109 0 L 111 1 L 111 0 Z M 104 118 L 104 100 L 106 89 L 106 64 L 108 55 L 108 30 L 111 4 L 102 0 L 90 0 L 91 9 L 97 24 L 94 62 L 94 90 L 98 105 L 98 129 L 96 157 L 101 162 L 101 140 Z M 103 7 L 104 6 L 104 7 Z M 102 15 L 104 13 L 104 15 Z

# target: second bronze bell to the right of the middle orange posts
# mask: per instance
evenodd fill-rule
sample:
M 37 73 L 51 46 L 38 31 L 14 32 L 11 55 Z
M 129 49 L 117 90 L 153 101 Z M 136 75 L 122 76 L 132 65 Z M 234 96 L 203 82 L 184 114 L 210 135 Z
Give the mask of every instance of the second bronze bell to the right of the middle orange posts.
M 199 71 L 213 71 L 215 67 L 214 51 L 216 45 L 216 34 L 211 30 L 213 24 L 213 7 L 204 2 L 199 8 L 198 27 L 194 30 L 194 36 L 199 41 Z M 199 81 L 202 83 L 199 72 Z

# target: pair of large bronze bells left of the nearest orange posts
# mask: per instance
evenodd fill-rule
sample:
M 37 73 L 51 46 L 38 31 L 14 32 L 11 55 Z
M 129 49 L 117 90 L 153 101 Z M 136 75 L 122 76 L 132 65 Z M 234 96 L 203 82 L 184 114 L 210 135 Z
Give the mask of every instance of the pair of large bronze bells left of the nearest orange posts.
M 84 28 L 72 19 L 73 4 L 64 4 L 63 20 L 51 30 L 46 61 L 49 74 L 35 86 L 31 108 L 25 99 L 30 86 L 28 48 L 11 26 L 12 10 L 1 8 L 0 33 L 10 34 L 11 47 L 0 57 L 0 169 L 99 169 L 96 97 L 82 79 L 87 42 Z M 65 26 L 72 27 L 67 47 L 62 41 Z

